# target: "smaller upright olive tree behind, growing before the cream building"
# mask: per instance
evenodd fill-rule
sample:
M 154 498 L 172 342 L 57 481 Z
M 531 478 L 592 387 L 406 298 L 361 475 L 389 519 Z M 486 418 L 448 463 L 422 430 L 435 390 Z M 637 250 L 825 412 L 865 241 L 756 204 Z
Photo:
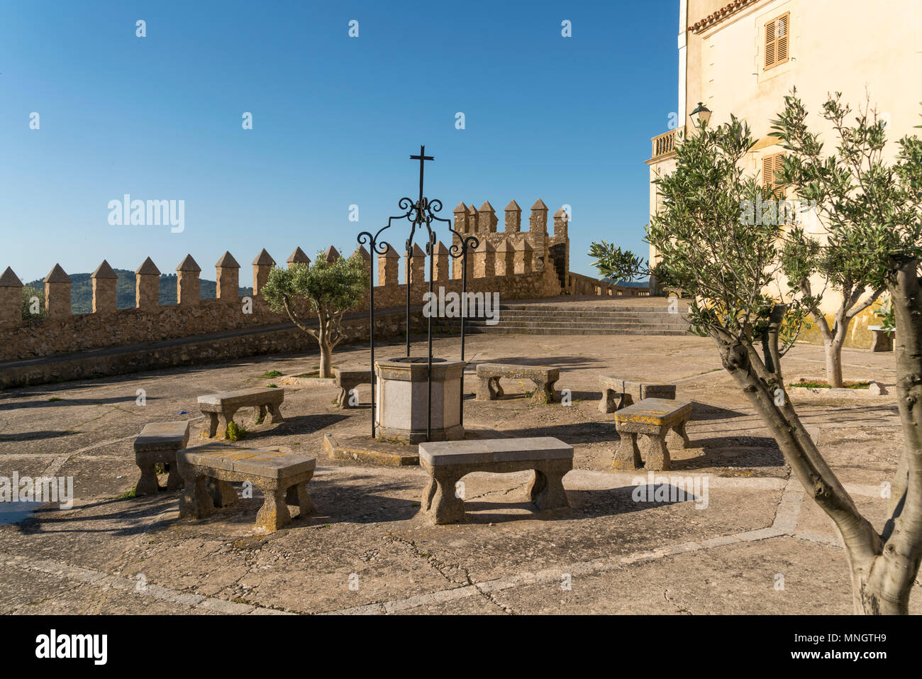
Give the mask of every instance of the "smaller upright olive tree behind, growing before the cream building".
M 822 240 L 803 229 L 788 232 L 783 263 L 787 280 L 801 293 L 810 318 L 820 328 L 830 387 L 843 386 L 842 346 L 852 319 L 886 289 L 874 275 L 877 263 L 873 258 L 855 249 L 855 243 L 842 241 L 847 234 L 857 234 L 856 227 L 864 220 L 876 219 L 876 204 L 892 181 L 881 172 L 886 132 L 878 116 L 868 112 L 849 127 L 845 125 L 848 113 L 839 95 L 823 106 L 822 117 L 841 140 L 830 156 L 823 155 L 820 135 L 810 132 L 806 124 L 807 109 L 797 89 L 785 97 L 785 109 L 772 121 L 773 135 L 781 137 L 781 146 L 788 151 L 776 178 L 810 206 L 821 226 L 818 235 Z M 813 289 L 811 279 L 815 278 L 822 280 L 821 290 Z M 831 324 L 820 309 L 827 290 L 839 298 Z

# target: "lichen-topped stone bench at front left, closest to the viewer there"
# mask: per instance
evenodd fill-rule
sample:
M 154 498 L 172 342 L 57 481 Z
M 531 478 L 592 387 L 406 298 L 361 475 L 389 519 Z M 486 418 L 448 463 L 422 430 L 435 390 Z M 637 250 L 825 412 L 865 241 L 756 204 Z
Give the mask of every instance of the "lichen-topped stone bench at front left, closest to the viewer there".
M 313 512 L 307 482 L 313 477 L 314 458 L 210 443 L 178 452 L 176 462 L 185 481 L 181 517 L 205 518 L 215 506 L 237 504 L 231 482 L 251 482 L 263 492 L 256 528 L 272 532 L 289 524 L 289 505 L 298 506 L 299 518 Z M 213 480 L 210 489 L 209 480 Z

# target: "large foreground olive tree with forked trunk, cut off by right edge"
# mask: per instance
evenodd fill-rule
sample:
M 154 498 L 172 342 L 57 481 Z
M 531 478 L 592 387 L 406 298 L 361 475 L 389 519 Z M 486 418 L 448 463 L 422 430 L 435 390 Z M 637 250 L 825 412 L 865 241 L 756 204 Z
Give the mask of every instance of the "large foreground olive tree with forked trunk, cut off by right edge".
M 826 107 L 845 118 L 847 109 L 836 101 Z M 891 291 L 896 317 L 904 447 L 889 516 L 878 532 L 786 395 L 781 359 L 810 304 L 776 282 L 783 273 L 783 227 L 777 220 L 749 224 L 741 218 L 740 206 L 761 200 L 766 190 L 741 169 L 754 144 L 749 127 L 731 116 L 727 124 L 699 125 L 696 132 L 677 147 L 675 172 L 656 180 L 664 201 L 647 239 L 691 296 L 692 328 L 715 341 L 724 368 L 762 416 L 806 493 L 832 518 L 845 546 L 856 613 L 906 613 L 922 559 L 922 144 L 904 137 L 891 167 L 876 162 L 873 176 L 861 170 L 862 186 L 873 186 L 874 195 L 857 188 L 840 207 L 849 219 L 830 224 L 830 247 L 869 257 L 869 282 Z M 839 133 L 858 134 L 845 126 Z M 852 167 L 859 160 L 847 158 Z

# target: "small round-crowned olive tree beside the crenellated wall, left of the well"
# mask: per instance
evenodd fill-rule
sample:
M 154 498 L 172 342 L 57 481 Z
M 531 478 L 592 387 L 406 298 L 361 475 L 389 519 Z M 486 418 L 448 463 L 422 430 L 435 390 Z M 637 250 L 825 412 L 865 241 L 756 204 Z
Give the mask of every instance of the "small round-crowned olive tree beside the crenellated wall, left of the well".
M 365 263 L 356 253 L 348 259 L 318 253 L 311 264 L 295 262 L 288 268 L 273 267 L 260 293 L 269 308 L 285 312 L 298 328 L 320 345 L 320 376 L 330 377 L 333 349 L 346 338 L 342 317 L 361 302 L 368 290 Z M 317 316 L 317 327 L 309 328 L 301 310 L 310 309 Z

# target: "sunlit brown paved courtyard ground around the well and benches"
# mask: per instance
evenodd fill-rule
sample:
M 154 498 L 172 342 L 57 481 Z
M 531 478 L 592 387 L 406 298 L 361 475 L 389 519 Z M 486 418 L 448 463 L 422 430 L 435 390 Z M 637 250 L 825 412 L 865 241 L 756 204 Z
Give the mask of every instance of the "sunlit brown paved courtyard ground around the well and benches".
M 458 339 L 436 340 L 435 351 L 456 356 Z M 378 355 L 401 352 L 396 342 Z M 323 435 L 367 431 L 370 411 L 337 410 L 337 389 L 321 385 L 286 387 L 286 422 L 255 426 L 240 444 L 318 457 L 309 484 L 317 513 L 308 520 L 256 534 L 258 493 L 201 521 L 177 520 L 177 494 L 118 499 L 136 482 L 132 439 L 144 423 L 192 418 L 192 443 L 200 443 L 196 396 L 278 383 L 260 375 L 301 374 L 317 364 L 311 355 L 0 392 L 0 476 L 73 476 L 77 494 L 71 510 L 38 509 L 18 522 L 21 506 L 0 506 L 0 613 L 850 612 L 833 524 L 790 480 L 710 340 L 475 335 L 467 355 L 561 367 L 557 386 L 572 391 L 570 407 L 532 405 L 522 398 L 530 384 L 507 381 L 505 399 L 467 399 L 465 413 L 468 427 L 573 444 L 569 510 L 534 512 L 527 473 L 473 474 L 465 479 L 469 522 L 426 525 L 416 516 L 426 482 L 419 468 L 324 457 Z M 366 361 L 360 347 L 335 357 L 344 368 Z M 844 362 L 847 378 L 892 384 L 892 354 L 845 350 Z M 798 346 L 786 358 L 790 377 L 822 374 L 822 366 L 819 347 Z M 597 411 L 600 372 L 677 382 L 679 398 L 694 401 L 692 448 L 674 456 L 669 473 L 706 476 L 706 508 L 632 501 L 635 474 L 610 470 L 618 435 L 612 416 Z M 361 389 L 367 401 L 369 387 Z M 475 389 L 471 365 L 466 391 Z M 796 403 L 880 527 L 880 484 L 901 440 L 892 398 Z M 922 612 L 918 590 L 911 610 Z

